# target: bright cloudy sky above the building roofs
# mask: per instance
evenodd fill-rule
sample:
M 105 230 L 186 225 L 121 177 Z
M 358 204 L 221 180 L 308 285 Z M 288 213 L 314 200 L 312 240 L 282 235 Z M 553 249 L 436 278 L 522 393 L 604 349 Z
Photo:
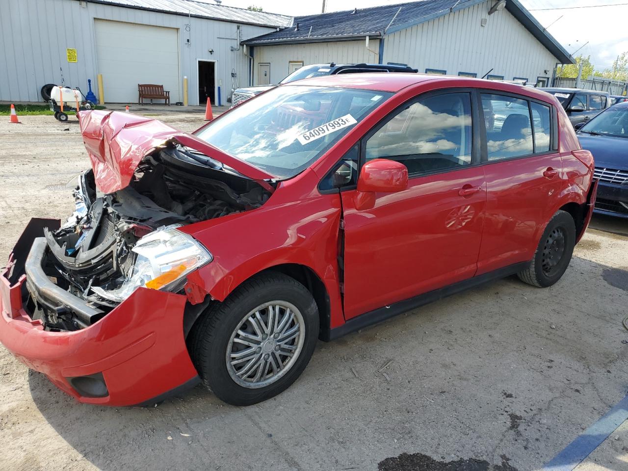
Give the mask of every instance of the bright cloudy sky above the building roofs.
M 212 0 L 201 0 L 213 3 Z M 519 0 L 536 19 L 548 27 L 548 32 L 569 52 L 584 46 L 576 55 L 590 55 L 597 70 L 612 67 L 617 55 L 628 51 L 628 0 Z M 223 5 L 247 8 L 259 6 L 270 13 L 299 16 L 320 13 L 323 0 L 223 0 Z M 327 0 L 326 11 L 367 8 L 369 6 L 401 3 L 400 0 Z M 591 5 L 624 3 L 621 6 L 571 8 Z M 545 10 L 544 9 L 551 9 Z M 562 18 L 560 18 L 562 16 Z M 560 19 L 558 19 L 560 18 Z M 551 24 L 553 21 L 556 23 Z

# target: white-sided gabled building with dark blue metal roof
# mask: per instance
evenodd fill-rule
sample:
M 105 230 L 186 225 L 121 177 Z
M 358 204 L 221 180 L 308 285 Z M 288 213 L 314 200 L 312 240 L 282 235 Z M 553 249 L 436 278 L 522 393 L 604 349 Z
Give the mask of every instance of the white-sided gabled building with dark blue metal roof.
M 573 63 L 517 0 L 425 0 L 301 16 L 244 44 L 256 85 L 311 63 L 400 62 L 419 72 L 543 86 L 557 63 Z

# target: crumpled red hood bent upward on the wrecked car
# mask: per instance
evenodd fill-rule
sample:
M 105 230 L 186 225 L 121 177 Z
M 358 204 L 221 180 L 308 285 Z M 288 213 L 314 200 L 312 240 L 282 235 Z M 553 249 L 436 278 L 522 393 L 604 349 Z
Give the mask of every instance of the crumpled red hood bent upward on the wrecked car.
M 96 185 L 103 193 L 127 187 L 144 156 L 165 146 L 168 141 L 195 149 L 257 181 L 267 190 L 273 190 L 265 181 L 274 178 L 273 175 L 156 119 L 119 111 L 94 110 L 79 112 L 78 120 Z

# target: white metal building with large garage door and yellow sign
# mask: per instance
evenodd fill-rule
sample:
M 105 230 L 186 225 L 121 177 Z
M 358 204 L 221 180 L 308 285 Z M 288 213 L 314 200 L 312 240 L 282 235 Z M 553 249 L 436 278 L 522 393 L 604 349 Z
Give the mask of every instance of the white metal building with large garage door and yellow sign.
M 88 78 L 98 95 L 102 73 L 106 102 L 138 102 L 138 84 L 182 102 L 187 76 L 189 104 L 217 104 L 219 86 L 225 104 L 232 73 L 249 84 L 241 41 L 291 23 L 190 0 L 0 0 L 0 100 L 41 101 L 41 87 L 62 80 L 87 93 Z

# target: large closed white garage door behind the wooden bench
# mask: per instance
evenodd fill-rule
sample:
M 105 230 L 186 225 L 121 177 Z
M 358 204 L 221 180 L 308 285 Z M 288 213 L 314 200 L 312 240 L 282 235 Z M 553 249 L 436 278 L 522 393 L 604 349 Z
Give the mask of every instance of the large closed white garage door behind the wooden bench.
M 102 19 L 94 28 L 105 102 L 137 103 L 138 84 L 163 85 L 171 103 L 180 101 L 178 30 Z

